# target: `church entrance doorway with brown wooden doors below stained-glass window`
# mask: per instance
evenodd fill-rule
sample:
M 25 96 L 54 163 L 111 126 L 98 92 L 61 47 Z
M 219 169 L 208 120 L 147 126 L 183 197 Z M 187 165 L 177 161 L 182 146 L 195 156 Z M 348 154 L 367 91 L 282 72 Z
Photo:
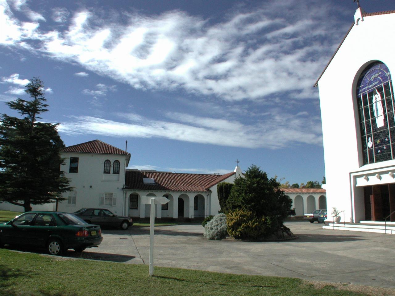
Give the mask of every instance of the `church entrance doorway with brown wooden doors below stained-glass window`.
M 384 221 L 385 217 L 395 211 L 395 184 L 363 187 L 363 195 L 367 221 Z M 387 221 L 395 221 L 395 214 Z

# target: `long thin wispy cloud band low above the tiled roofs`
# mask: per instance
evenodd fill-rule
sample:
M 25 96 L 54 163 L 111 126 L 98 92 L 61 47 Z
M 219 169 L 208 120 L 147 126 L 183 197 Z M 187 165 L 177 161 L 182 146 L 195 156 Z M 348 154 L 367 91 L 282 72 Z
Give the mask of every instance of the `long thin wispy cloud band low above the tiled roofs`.
M 277 149 L 290 143 L 322 144 L 320 118 L 300 118 L 284 112 L 273 111 L 267 119 L 253 125 L 216 118 L 203 118 L 196 122 L 188 114 L 179 114 L 179 117 L 184 118 L 184 123 L 148 120 L 137 114 L 123 114 L 122 117 L 128 118 L 128 123 L 91 116 L 73 116 L 60 124 L 59 131 L 68 135 L 156 137 L 244 148 Z

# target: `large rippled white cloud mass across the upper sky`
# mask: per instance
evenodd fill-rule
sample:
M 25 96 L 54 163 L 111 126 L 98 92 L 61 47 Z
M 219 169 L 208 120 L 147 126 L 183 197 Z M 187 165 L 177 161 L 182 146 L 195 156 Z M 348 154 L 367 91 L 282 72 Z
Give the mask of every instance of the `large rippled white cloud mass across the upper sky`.
M 215 24 L 182 11 L 135 13 L 126 23 L 108 17 L 98 24 L 94 9 L 86 9 L 70 18 L 63 13 L 62 22 L 67 18 L 70 26 L 53 31 L 41 30 L 39 16 L 31 17 L 32 23 L 19 21 L 7 5 L 0 13 L 3 45 L 75 62 L 137 89 L 182 88 L 228 101 L 271 101 L 280 93 L 317 97 L 306 90 L 339 42 L 333 27 L 344 25 L 329 4 L 316 0 L 272 0 Z M 101 96 L 101 91 L 85 93 Z

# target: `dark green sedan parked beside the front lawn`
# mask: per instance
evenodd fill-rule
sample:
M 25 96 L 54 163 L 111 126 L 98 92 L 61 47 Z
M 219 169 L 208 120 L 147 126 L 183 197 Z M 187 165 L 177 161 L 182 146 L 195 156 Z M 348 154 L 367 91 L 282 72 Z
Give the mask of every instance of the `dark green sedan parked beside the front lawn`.
M 45 247 L 52 255 L 62 255 L 67 249 L 82 252 L 97 247 L 102 240 L 100 226 L 63 212 L 26 212 L 0 224 L 0 247 Z

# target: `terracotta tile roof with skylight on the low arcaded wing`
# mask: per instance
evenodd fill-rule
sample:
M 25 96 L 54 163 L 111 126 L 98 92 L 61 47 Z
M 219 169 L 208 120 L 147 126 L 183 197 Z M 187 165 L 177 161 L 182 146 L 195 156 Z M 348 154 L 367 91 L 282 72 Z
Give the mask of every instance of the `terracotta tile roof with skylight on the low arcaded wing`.
M 126 170 L 125 185 L 126 188 L 135 190 L 209 191 L 207 185 L 219 179 L 223 180 L 223 176 L 230 176 L 232 173 L 214 175 Z M 155 184 L 144 184 L 143 178 L 154 179 Z

